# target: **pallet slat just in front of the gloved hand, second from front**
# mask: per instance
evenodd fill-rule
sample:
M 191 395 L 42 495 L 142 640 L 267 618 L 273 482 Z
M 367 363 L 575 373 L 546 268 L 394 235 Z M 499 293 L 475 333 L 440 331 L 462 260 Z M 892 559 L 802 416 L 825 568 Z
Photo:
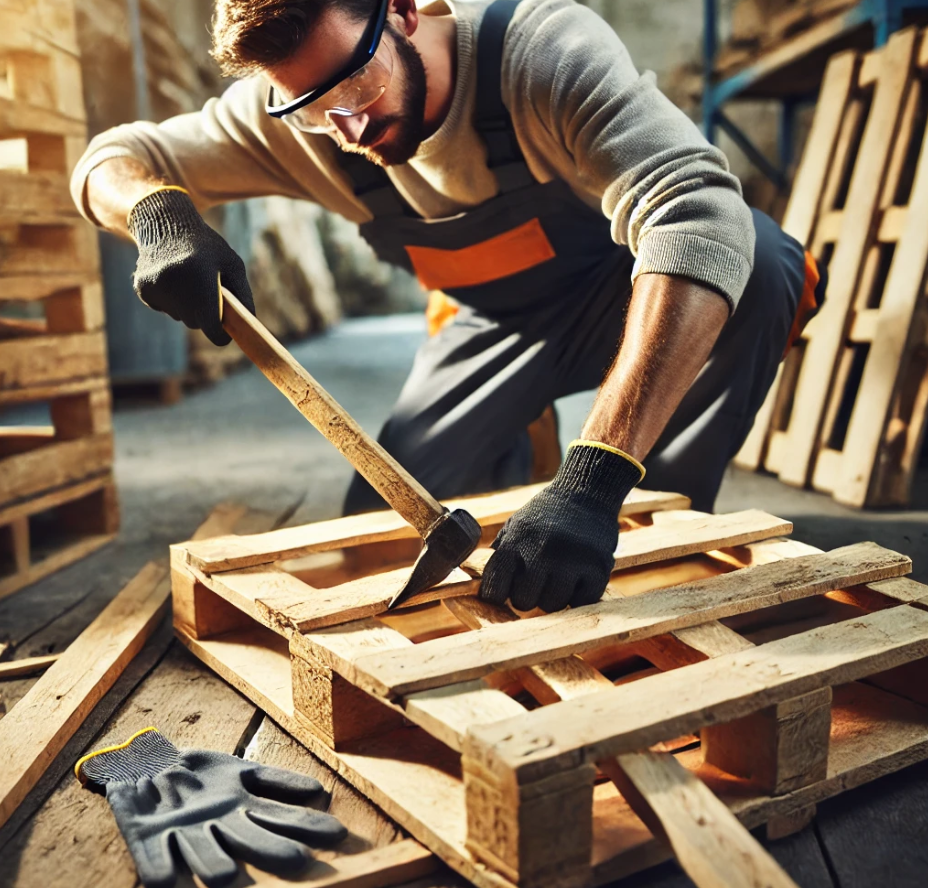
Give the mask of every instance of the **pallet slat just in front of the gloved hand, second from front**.
M 900 576 L 910 570 L 903 555 L 859 543 L 825 555 L 758 565 L 633 598 L 601 601 L 566 612 L 533 617 L 481 632 L 423 642 L 413 649 L 368 654 L 351 663 L 327 659 L 316 639 L 337 636 L 338 627 L 291 638 L 296 649 L 327 662 L 370 693 L 409 694 L 500 669 L 530 666 L 606 643 L 636 641 L 736 613 L 806 598 L 857 583 Z M 350 631 L 347 624 L 345 631 Z M 665 738 L 662 738 L 665 739 Z

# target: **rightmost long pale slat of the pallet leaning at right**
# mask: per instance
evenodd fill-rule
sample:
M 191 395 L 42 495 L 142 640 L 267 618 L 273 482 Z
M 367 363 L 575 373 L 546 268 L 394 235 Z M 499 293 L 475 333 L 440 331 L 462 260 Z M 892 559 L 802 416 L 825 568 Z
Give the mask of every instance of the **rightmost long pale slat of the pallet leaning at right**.
M 912 319 L 923 293 L 928 266 L 928 140 L 921 146 L 906 227 L 896 247 L 880 301 L 863 378 L 842 449 L 834 498 L 862 507 L 874 476 L 889 410 L 904 377 L 906 352 L 914 341 Z M 913 417 L 923 422 L 924 417 Z

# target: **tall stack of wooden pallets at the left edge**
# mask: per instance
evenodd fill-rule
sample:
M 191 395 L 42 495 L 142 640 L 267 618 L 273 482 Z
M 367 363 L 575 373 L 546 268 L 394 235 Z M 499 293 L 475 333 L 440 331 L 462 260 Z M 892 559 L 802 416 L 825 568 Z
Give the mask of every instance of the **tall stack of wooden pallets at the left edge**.
M 68 173 L 85 144 L 71 0 L 0 6 L 0 596 L 118 521 L 93 229 Z

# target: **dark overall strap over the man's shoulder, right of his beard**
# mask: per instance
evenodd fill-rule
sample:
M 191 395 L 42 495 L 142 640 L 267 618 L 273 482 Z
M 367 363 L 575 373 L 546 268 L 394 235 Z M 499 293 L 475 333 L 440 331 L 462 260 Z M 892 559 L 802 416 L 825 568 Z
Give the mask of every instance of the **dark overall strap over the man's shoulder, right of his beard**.
M 487 146 L 487 165 L 503 193 L 534 183 L 503 104 L 501 71 L 506 29 L 519 0 L 494 0 L 477 36 L 477 102 L 474 126 Z

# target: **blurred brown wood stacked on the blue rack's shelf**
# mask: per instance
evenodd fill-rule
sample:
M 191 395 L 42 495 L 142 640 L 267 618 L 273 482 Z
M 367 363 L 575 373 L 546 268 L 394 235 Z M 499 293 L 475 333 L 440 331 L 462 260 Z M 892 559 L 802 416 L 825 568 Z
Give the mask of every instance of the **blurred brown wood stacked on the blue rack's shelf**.
M 722 76 L 758 54 L 770 52 L 810 29 L 827 29 L 856 0 L 738 0 L 731 13 L 731 36 L 716 59 Z

